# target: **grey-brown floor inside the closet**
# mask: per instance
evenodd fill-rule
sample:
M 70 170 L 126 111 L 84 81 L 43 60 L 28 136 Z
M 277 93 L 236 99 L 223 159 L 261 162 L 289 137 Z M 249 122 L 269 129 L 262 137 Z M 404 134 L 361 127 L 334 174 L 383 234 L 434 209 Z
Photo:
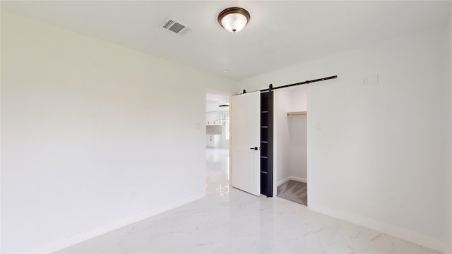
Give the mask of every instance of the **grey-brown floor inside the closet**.
M 278 186 L 277 193 L 278 197 L 285 200 L 308 205 L 307 183 L 290 180 Z

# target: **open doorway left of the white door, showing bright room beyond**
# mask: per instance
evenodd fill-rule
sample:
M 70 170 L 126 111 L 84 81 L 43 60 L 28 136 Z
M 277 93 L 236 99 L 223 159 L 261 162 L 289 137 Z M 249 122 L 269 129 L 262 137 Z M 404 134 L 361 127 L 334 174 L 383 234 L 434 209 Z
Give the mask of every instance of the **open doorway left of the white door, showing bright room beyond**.
M 230 190 L 230 96 L 206 92 L 206 195 Z

